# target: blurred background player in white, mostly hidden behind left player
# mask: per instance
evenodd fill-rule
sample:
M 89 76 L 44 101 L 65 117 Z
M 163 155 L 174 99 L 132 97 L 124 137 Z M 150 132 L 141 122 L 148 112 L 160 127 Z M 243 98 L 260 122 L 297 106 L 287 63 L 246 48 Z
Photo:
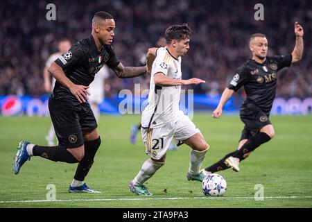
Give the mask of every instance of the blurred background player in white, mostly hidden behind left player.
M 48 68 L 51 66 L 52 62 L 54 62 L 59 56 L 62 56 L 62 54 L 69 51 L 69 49 L 71 49 L 71 42 L 67 39 L 60 40 L 58 43 L 58 52 L 53 53 L 51 56 L 49 56 L 48 60 L 46 60 L 43 71 L 45 92 L 51 93 L 55 85 L 55 78 L 52 77 L 52 81 L 50 80 Z M 48 146 L 55 146 L 55 131 L 52 123 L 49 129 L 49 133 L 46 135 L 45 139 L 48 143 Z

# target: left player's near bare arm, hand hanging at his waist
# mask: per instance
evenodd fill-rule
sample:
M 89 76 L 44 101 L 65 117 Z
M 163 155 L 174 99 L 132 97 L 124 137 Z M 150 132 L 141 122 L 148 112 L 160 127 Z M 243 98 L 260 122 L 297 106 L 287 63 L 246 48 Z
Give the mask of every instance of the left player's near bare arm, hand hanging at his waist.
M 73 82 L 65 76 L 62 67 L 56 64 L 56 62 L 52 63 L 48 71 L 59 83 L 69 88 L 71 93 L 76 96 L 80 103 L 85 103 L 85 101 L 88 100 L 87 95 L 89 95 L 89 92 L 87 92 L 87 89 L 89 86 L 73 84 Z

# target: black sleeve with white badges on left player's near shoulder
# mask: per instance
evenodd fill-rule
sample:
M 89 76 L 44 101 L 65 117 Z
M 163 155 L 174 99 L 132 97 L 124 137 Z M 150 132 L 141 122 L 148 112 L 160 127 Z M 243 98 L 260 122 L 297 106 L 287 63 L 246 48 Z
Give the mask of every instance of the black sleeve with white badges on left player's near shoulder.
M 55 60 L 63 69 L 72 67 L 80 58 L 87 54 L 87 48 L 82 44 L 73 44 L 71 49 Z

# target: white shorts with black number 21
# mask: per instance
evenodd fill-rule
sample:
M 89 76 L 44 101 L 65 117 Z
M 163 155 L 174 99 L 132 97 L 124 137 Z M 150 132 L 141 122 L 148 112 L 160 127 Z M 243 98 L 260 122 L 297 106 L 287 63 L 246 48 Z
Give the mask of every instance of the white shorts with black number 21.
M 173 138 L 184 141 L 199 132 L 200 130 L 187 115 L 182 115 L 178 121 L 159 128 L 141 128 L 146 154 L 155 160 L 165 155 Z

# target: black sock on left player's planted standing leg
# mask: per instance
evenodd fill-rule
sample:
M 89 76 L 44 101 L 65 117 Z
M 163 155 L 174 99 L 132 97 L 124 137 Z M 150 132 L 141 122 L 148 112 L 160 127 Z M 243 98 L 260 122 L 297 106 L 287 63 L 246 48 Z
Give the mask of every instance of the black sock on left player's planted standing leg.
M 83 157 L 83 160 L 81 160 L 78 164 L 75 176 L 73 177 L 75 180 L 85 180 L 85 177 L 92 167 L 92 164 L 94 162 L 94 156 L 96 155 L 96 151 L 98 151 L 98 147 L 100 147 L 100 144 L 100 137 L 98 137 L 98 139 L 85 142 L 85 156 Z

